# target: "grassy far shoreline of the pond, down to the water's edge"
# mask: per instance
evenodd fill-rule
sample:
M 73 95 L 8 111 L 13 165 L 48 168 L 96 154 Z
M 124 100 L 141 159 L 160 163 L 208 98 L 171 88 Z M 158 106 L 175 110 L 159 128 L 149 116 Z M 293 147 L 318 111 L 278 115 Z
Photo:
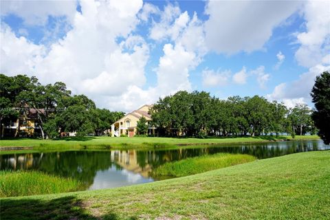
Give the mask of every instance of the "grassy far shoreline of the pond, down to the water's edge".
M 293 139 L 289 136 L 262 136 L 262 137 L 228 137 L 228 138 L 173 138 L 173 137 L 94 137 L 94 139 L 83 140 L 1 140 L 3 146 L 0 151 L 24 151 L 24 150 L 70 150 L 70 149 L 104 149 L 104 150 L 123 150 L 123 149 L 156 149 L 156 148 L 177 148 L 184 146 L 203 146 L 203 145 L 223 145 L 223 144 L 258 144 L 269 142 L 287 142 L 300 140 L 320 140 L 316 135 L 298 136 Z M 125 139 L 126 140 L 125 140 Z M 117 142 L 117 141 L 120 142 Z M 30 143 L 29 143 L 30 142 Z M 1 143 L 2 144 L 2 143 Z M 26 146 L 24 146 L 26 144 Z M 12 146 L 10 146 L 12 145 Z

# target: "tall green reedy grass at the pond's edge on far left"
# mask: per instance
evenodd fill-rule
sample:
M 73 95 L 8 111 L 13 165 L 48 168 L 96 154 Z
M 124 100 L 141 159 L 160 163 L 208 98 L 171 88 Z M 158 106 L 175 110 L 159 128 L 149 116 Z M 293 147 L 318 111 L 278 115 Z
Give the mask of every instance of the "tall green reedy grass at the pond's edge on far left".
M 0 197 L 72 192 L 79 189 L 79 181 L 72 178 L 47 175 L 35 170 L 0 171 Z

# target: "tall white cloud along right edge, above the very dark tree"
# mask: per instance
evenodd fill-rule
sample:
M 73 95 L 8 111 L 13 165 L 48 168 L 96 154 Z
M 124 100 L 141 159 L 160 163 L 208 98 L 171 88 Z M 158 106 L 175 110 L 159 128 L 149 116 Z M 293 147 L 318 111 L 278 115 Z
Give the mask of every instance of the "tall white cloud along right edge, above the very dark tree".
M 297 80 L 276 86 L 268 98 L 287 103 L 311 101 L 309 93 L 316 76 L 330 69 L 329 8 L 329 1 L 309 1 L 304 5 L 306 31 L 297 34 L 300 46 L 295 57 L 300 65 L 309 69 Z

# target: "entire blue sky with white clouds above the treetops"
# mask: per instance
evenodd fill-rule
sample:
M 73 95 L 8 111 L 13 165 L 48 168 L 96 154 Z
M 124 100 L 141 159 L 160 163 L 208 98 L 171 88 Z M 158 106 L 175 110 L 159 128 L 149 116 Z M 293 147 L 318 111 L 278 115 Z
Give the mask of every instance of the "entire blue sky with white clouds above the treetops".
M 131 111 L 178 90 L 313 106 L 329 1 L 1 1 L 1 73 Z

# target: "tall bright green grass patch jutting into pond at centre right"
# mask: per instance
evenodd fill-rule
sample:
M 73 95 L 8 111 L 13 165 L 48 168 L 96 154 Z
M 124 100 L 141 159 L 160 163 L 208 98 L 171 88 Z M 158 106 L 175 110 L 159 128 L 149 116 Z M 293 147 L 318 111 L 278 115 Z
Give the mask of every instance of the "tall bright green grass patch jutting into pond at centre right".
M 252 162 L 255 159 L 256 157 L 252 155 L 243 154 L 217 153 L 214 155 L 203 155 L 201 157 L 192 157 L 176 162 L 168 162 L 158 166 L 153 170 L 153 176 L 185 177 L 227 166 Z

